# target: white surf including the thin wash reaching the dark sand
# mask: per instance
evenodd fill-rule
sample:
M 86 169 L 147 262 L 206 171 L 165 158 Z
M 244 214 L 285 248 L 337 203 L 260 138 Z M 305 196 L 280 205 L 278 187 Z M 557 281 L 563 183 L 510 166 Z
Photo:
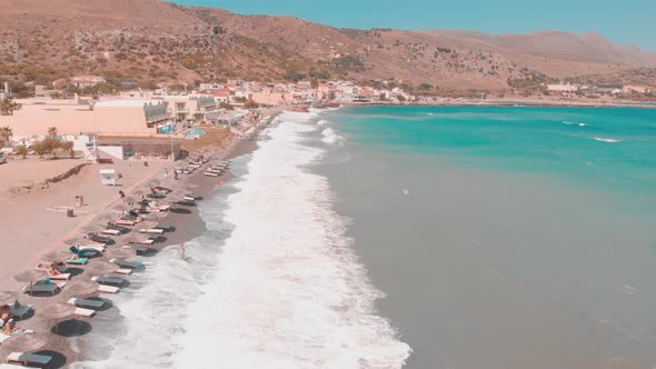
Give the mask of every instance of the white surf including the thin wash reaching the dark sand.
M 108 357 L 72 368 L 404 366 L 411 349 L 376 313 L 385 295 L 345 236 L 327 178 L 309 171 L 330 146 L 317 117 L 284 113 L 233 160 L 241 174 L 202 203 L 208 231 L 187 260 L 175 246 L 143 259 L 147 271 L 115 299 L 113 332 L 91 338 Z

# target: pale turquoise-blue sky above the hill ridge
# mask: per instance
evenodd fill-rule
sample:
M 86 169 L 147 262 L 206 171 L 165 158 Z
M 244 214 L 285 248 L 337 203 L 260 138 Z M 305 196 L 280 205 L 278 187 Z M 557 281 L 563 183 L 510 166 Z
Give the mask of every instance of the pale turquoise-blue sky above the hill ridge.
M 295 16 L 334 27 L 596 31 L 656 51 L 656 0 L 173 0 L 241 14 Z

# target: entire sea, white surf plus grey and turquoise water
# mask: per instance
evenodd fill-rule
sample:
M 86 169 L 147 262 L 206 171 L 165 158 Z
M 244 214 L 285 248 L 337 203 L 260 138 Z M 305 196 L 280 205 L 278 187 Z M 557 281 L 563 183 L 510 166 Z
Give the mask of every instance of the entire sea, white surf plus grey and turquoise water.
M 656 111 L 284 113 L 74 368 L 654 368 Z

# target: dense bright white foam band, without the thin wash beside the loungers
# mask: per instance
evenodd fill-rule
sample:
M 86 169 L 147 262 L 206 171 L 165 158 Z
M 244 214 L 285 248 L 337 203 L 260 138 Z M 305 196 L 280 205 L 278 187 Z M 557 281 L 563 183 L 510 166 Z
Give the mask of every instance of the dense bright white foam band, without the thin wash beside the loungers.
M 298 118 L 269 130 L 228 199 L 235 230 L 189 310 L 176 368 L 400 368 L 410 353 L 375 315 L 382 293 L 331 210 L 328 180 L 304 169 L 325 151 L 304 144 L 316 124 Z

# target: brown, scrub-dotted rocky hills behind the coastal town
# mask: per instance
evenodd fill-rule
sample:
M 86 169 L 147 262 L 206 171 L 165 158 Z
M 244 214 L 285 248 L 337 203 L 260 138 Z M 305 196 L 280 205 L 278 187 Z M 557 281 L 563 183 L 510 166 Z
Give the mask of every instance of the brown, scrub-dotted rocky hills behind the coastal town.
M 159 0 L 0 2 L 0 78 L 14 83 L 98 73 L 141 83 L 351 78 L 504 90 L 563 78 L 654 86 L 654 67 L 656 54 L 596 33 L 337 29 Z

